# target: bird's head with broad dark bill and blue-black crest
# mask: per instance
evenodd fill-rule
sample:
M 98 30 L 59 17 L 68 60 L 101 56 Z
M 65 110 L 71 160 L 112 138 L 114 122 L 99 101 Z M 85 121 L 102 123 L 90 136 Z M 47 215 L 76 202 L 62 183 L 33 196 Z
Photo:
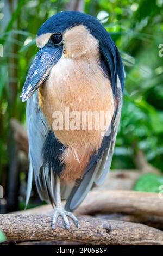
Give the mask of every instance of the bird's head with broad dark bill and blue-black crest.
M 41 86 L 60 58 L 81 58 L 90 52 L 99 54 L 101 66 L 111 80 L 113 93 L 117 75 L 123 81 L 120 54 L 109 33 L 95 17 L 77 11 L 55 14 L 39 28 L 36 45 L 40 50 L 22 89 L 23 102 Z

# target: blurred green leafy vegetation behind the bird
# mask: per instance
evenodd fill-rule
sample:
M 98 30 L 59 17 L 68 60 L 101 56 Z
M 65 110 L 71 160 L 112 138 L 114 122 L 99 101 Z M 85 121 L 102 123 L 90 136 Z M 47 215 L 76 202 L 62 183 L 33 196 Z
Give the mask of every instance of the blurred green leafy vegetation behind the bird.
M 35 35 L 48 17 L 71 9 L 69 2 L 73 1 L 0 0 L 0 184 L 7 199 L 7 206 L 3 202 L 5 208 L 1 211 L 17 209 L 25 194 L 24 169 L 27 168 L 26 164 L 18 163 L 10 120 L 15 118 L 26 126 L 26 105 L 20 95 L 37 52 Z M 163 43 L 163 1 L 85 0 L 83 5 L 84 12 L 100 19 L 111 34 L 126 69 L 122 118 L 112 169 L 137 168 L 136 156 L 141 151 L 149 163 L 163 170 L 163 57 L 158 54 L 158 46 Z M 154 176 L 139 182 L 140 186 L 137 184 L 135 189 L 153 191 Z M 146 188 L 143 185 L 148 180 Z

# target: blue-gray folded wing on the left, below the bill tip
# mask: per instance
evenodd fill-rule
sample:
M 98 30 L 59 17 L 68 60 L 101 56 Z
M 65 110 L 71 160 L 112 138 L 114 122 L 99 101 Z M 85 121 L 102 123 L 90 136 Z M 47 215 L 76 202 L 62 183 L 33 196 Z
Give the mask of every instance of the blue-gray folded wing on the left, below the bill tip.
M 29 143 L 29 174 L 27 185 L 26 205 L 30 198 L 30 192 L 32 189 L 33 173 L 37 191 L 42 200 L 48 200 L 48 194 L 45 191 L 45 187 L 42 179 L 40 179 L 43 167 L 42 147 L 47 134 L 49 132 L 49 126 L 47 120 L 38 104 L 37 92 L 35 92 L 27 101 L 26 107 L 26 121 L 27 121 L 27 133 Z

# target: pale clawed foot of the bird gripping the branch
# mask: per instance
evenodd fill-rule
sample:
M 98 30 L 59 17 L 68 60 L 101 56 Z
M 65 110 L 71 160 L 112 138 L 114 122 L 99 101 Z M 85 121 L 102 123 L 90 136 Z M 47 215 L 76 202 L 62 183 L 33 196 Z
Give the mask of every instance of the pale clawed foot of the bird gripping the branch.
M 64 221 L 65 229 L 70 229 L 70 222 L 68 220 L 68 217 L 70 217 L 74 221 L 74 224 L 78 228 L 78 219 L 72 214 L 72 212 L 66 211 L 64 208 L 62 208 L 62 206 L 58 206 L 54 210 L 52 229 L 55 229 L 55 223 L 57 222 L 59 216 L 61 216 Z

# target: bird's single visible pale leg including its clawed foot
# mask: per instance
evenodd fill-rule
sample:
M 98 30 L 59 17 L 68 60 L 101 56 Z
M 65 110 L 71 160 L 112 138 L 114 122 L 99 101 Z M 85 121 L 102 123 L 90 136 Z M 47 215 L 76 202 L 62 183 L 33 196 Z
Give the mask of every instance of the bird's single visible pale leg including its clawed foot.
M 56 175 L 55 178 L 56 178 L 56 187 L 55 187 L 56 206 L 54 209 L 54 215 L 52 220 L 52 229 L 55 229 L 55 223 L 57 222 L 59 215 L 63 218 L 66 229 L 70 229 L 70 222 L 67 216 L 72 218 L 72 220 L 74 221 L 74 224 L 76 225 L 76 227 L 78 227 L 77 218 L 72 214 L 72 212 L 66 211 L 62 206 L 61 197 L 60 197 L 60 178 L 58 175 Z

